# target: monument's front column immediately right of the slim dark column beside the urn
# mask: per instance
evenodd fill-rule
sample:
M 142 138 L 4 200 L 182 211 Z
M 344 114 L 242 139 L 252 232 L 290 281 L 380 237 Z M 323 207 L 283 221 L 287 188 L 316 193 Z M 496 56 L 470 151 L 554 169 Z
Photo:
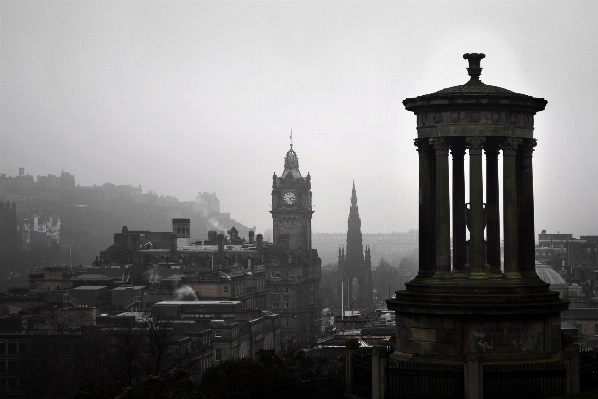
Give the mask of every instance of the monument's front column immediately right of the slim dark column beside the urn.
M 521 278 L 517 212 L 517 147 L 521 139 L 506 139 L 503 152 L 503 210 L 505 227 L 505 277 Z

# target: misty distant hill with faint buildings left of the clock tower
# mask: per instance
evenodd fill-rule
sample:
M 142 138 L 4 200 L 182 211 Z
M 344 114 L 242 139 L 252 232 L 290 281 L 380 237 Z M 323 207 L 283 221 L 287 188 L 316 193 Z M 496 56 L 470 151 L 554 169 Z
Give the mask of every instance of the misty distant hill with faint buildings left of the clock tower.
M 200 193 L 196 201 L 180 202 L 152 191 L 142 193 L 140 187 L 131 185 L 77 186 L 74 176 L 67 172 L 61 176 L 38 176 L 37 181 L 22 169 L 15 177 L 0 174 L 0 200 L 17 203 L 19 221 L 31 220 L 33 215 L 60 219 L 62 262 L 69 264 L 72 260 L 73 265 L 91 264 L 100 251 L 113 243 L 114 233 L 123 226 L 129 230 L 171 231 L 173 218 L 191 219 L 192 239 L 204 240 L 208 230 L 226 231 L 233 226 L 240 237 L 248 238 L 247 226 L 231 219 L 230 214 L 219 212 L 215 194 L 207 195 L 209 206 L 204 201 L 206 193 L 203 195 Z M 43 257 L 35 259 L 21 266 L 45 266 L 37 264 L 43 262 Z M 56 256 L 48 262 L 55 263 Z

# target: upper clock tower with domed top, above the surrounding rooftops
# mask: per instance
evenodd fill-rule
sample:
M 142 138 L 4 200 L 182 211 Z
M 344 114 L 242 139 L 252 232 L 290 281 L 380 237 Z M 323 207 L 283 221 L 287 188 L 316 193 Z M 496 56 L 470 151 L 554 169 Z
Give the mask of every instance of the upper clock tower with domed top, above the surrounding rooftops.
M 311 176 L 301 176 L 293 144 L 284 158 L 282 176 L 272 176 L 274 243 L 288 237 L 289 249 L 311 250 Z

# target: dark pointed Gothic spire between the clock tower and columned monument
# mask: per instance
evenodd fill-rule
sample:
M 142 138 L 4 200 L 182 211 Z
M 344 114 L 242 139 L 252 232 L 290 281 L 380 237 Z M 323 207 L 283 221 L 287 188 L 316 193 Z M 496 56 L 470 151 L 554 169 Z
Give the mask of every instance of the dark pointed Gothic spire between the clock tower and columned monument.
M 367 246 L 364 256 L 355 182 L 347 224 L 346 252 L 345 248 L 339 248 L 338 255 L 339 276 L 347 289 L 347 310 L 369 309 L 372 306 L 372 258 Z

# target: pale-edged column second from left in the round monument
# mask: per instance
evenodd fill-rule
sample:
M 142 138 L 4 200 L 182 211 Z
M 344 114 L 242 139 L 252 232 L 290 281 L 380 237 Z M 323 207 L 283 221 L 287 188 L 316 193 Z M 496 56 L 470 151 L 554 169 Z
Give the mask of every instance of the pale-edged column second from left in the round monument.
M 451 274 L 451 204 L 449 194 L 448 142 L 432 138 L 436 153 L 436 273 L 435 278 Z

